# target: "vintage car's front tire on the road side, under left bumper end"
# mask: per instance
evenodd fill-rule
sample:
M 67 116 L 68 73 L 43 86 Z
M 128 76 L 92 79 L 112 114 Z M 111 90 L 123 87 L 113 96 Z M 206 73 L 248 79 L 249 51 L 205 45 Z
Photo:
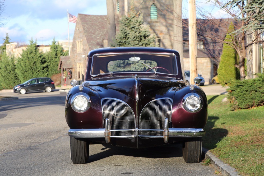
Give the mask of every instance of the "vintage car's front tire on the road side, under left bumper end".
M 83 138 L 70 139 L 71 160 L 73 164 L 88 163 L 89 158 L 89 143 Z

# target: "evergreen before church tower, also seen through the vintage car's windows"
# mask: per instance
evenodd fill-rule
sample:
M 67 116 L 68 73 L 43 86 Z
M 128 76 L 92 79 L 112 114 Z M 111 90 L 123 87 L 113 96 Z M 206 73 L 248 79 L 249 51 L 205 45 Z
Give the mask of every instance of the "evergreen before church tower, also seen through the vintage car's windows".
M 112 47 L 155 47 L 155 36 L 150 36 L 149 26 L 144 27 L 143 16 L 136 12 L 133 4 L 127 16 L 123 16 L 119 21 L 119 33 L 113 40 Z M 153 61 L 143 61 L 151 67 L 157 66 Z M 133 64 L 132 64 L 133 63 Z M 149 67 L 144 64 L 132 61 L 114 61 L 113 65 L 109 66 L 109 70 L 128 71 L 148 70 Z

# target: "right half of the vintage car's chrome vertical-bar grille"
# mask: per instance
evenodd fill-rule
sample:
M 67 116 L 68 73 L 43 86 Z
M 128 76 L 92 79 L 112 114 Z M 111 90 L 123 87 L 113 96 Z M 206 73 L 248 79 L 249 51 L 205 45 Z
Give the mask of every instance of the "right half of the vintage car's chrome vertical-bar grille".
M 172 117 L 172 99 L 159 98 L 150 101 L 139 118 L 138 136 L 141 138 L 163 137 L 164 120 Z

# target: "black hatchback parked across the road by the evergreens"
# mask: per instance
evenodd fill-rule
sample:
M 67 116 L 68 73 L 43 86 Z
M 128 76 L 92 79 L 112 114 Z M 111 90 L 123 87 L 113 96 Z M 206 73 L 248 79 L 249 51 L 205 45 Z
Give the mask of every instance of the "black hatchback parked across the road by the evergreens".
M 41 91 L 51 92 L 55 89 L 54 81 L 50 78 L 33 78 L 23 84 L 17 85 L 13 88 L 14 92 L 25 94 L 31 91 Z

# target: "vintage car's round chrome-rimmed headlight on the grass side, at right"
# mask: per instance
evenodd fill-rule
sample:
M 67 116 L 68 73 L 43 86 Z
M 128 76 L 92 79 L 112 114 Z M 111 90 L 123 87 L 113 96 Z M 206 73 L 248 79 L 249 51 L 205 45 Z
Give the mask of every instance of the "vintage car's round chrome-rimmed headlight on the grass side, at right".
M 184 96 L 182 105 L 188 112 L 197 112 L 202 108 L 202 98 L 196 93 L 189 93 Z

